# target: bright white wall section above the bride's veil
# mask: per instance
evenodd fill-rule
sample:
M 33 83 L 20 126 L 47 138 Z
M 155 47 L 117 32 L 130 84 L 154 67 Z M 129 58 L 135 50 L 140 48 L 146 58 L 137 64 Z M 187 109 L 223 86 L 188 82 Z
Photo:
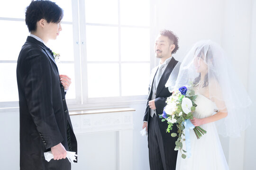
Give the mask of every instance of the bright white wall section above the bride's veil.
M 156 0 L 156 34 L 172 30 L 179 37 L 180 49 L 174 58 L 182 60 L 199 40 L 221 43 L 223 0 Z

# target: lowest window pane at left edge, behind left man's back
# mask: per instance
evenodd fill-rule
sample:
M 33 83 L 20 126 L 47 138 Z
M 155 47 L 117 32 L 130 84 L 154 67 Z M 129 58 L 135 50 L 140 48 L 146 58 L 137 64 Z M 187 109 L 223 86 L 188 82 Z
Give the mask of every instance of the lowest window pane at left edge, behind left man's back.
M 0 63 L 0 102 L 18 101 L 16 67 L 16 63 Z

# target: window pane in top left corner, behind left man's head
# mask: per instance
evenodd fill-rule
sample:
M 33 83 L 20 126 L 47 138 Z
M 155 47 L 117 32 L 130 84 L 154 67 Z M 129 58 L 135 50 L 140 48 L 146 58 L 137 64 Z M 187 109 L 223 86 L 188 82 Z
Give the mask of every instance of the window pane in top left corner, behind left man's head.
M 30 3 L 31 0 L 1 0 L 0 17 L 25 18 L 25 10 Z

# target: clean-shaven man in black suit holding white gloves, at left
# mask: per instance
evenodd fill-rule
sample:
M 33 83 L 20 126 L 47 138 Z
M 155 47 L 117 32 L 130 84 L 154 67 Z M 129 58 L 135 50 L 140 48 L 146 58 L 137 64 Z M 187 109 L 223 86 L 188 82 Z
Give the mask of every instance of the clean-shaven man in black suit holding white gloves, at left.
M 60 31 L 63 10 L 48 0 L 32 1 L 26 10 L 30 32 L 17 63 L 20 112 L 20 170 L 71 170 L 66 151 L 77 142 L 65 101 L 71 84 L 59 75 L 53 52 L 46 47 Z M 47 162 L 44 153 L 54 159 Z

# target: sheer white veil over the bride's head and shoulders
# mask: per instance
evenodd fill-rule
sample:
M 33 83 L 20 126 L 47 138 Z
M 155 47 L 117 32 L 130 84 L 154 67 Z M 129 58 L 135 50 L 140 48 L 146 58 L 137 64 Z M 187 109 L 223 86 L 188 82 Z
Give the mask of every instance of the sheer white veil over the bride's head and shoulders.
M 240 136 L 240 132 L 250 125 L 247 107 L 251 100 L 217 43 L 197 42 L 180 67 L 174 68 L 165 86 L 172 92 L 184 85 L 209 98 L 219 111 L 228 112 L 226 118 L 216 122 L 222 136 Z

